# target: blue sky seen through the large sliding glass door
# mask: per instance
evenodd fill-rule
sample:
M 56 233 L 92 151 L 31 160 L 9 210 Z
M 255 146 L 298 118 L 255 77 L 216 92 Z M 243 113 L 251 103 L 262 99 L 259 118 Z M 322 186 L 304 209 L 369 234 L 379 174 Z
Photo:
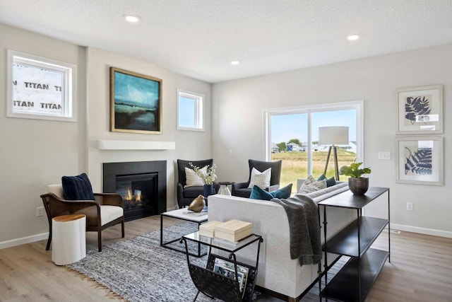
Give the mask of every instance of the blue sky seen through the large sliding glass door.
M 307 113 L 294 115 L 273 115 L 271 117 L 271 141 L 275 144 L 299 139 L 307 142 Z M 312 141 L 319 140 L 319 127 L 347 126 L 349 140 L 356 141 L 356 110 L 313 112 Z

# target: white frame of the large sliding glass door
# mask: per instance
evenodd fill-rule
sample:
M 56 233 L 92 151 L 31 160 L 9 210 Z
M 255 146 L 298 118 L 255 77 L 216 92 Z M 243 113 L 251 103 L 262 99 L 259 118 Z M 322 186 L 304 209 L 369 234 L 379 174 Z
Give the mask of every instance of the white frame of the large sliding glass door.
M 311 138 L 311 114 L 315 112 L 327 112 L 334 110 L 356 110 L 356 137 L 357 151 L 356 161 L 364 162 L 364 100 L 352 100 L 336 103 L 322 103 L 315 105 L 302 105 L 287 108 L 269 108 L 263 110 L 263 148 L 266 161 L 271 160 L 271 117 L 272 115 L 307 114 L 308 132 L 308 175 L 312 174 L 312 138 Z

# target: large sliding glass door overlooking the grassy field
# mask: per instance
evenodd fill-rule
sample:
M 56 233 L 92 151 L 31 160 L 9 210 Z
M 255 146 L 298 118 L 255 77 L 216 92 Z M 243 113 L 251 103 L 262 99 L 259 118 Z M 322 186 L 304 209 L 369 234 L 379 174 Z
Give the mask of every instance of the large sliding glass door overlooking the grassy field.
M 283 160 L 280 186 L 292 183 L 295 192 L 297 178 L 318 178 L 324 172 L 329 146 L 319 144 L 319 127 L 348 127 L 348 144 L 337 146 L 338 168 L 362 161 L 362 108 L 363 101 L 359 100 L 265 110 L 266 160 Z M 335 176 L 333 156 L 326 176 Z M 345 180 L 344 176 L 340 178 Z

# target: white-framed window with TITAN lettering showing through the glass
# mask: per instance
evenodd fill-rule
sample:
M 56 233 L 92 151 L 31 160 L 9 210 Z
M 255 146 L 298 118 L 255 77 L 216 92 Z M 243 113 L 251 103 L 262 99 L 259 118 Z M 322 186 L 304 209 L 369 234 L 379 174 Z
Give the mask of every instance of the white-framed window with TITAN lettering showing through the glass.
M 6 115 L 76 121 L 76 66 L 8 50 Z

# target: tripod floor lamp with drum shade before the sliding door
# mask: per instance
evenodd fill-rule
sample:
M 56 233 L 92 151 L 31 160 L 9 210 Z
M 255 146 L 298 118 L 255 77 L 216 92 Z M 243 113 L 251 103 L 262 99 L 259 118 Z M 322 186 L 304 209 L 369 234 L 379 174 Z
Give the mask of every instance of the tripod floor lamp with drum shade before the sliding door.
M 338 147 L 337 145 L 347 145 L 348 141 L 348 127 L 319 127 L 319 145 L 329 145 L 328 155 L 326 156 L 325 170 L 323 175 L 326 175 L 328 169 L 328 162 L 330 161 L 331 150 L 333 150 L 334 157 L 334 173 L 336 180 L 339 180 L 339 166 L 338 166 Z

